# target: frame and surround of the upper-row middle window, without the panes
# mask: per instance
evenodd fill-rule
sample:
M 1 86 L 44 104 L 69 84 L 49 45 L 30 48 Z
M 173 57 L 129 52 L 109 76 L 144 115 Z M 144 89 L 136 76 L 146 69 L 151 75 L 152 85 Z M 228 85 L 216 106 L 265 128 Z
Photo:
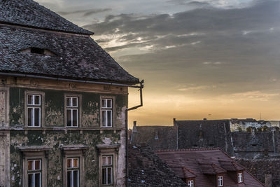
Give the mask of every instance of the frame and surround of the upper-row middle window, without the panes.
M 73 105 L 73 99 L 77 99 L 77 105 Z M 67 99 L 69 100 L 69 105 L 67 105 Z M 70 128 L 77 128 L 80 126 L 80 95 L 65 95 L 65 104 L 64 104 L 64 108 L 65 108 L 65 126 L 66 127 L 70 127 Z M 67 111 L 71 111 L 71 125 L 67 125 Z M 77 111 L 76 112 L 76 118 L 77 118 L 77 125 L 74 126 L 73 125 L 73 111 Z

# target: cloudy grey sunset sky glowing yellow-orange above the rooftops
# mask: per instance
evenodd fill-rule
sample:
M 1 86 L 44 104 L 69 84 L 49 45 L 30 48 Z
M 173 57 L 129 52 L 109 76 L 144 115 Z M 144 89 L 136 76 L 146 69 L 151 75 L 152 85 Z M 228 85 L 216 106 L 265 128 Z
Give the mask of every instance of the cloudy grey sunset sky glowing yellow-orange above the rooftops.
M 129 123 L 280 120 L 280 0 L 36 0 L 144 79 Z M 130 89 L 130 106 L 139 91 Z

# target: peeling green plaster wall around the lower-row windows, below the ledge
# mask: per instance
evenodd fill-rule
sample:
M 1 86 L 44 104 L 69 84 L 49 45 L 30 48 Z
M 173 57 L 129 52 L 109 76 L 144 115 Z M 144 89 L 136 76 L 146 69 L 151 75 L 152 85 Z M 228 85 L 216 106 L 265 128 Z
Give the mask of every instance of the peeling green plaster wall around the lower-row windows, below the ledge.
M 110 138 L 112 144 L 120 143 L 120 130 L 106 130 L 100 134 L 99 130 L 87 130 L 80 134 L 79 131 L 29 131 L 27 135 L 23 131 L 10 132 L 10 177 L 11 186 L 20 186 L 22 182 L 22 154 L 18 146 L 50 147 L 48 154 L 48 186 L 62 186 L 62 151 L 61 146 L 68 144 L 84 144 L 89 148 L 85 152 L 85 186 L 98 186 L 99 163 L 97 144 L 104 144 L 103 140 Z

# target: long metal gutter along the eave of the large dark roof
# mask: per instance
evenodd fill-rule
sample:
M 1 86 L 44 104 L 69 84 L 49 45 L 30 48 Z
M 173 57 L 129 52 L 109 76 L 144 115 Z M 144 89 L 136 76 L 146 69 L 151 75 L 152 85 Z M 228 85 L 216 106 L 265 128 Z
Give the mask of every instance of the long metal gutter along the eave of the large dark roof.
M 128 84 L 120 84 L 120 83 L 106 83 L 106 82 L 100 82 L 100 81 L 81 81 L 77 79 L 69 79 L 69 78 L 55 78 L 51 76 L 34 76 L 34 75 L 28 75 L 28 74 L 13 74 L 13 73 L 0 73 L 0 76 L 19 76 L 19 77 L 26 77 L 26 78 L 44 78 L 48 80 L 54 80 L 54 81 L 71 81 L 76 83 L 93 83 L 93 84 L 99 84 L 99 85 L 118 85 L 118 86 L 125 86 L 130 88 L 141 88 L 143 85 L 128 85 Z

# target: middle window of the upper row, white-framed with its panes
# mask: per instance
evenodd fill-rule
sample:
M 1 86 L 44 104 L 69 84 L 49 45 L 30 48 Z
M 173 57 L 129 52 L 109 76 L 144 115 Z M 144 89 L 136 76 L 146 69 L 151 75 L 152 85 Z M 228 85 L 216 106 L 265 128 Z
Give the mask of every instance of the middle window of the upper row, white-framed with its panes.
M 66 97 L 66 126 L 78 127 L 78 97 Z

